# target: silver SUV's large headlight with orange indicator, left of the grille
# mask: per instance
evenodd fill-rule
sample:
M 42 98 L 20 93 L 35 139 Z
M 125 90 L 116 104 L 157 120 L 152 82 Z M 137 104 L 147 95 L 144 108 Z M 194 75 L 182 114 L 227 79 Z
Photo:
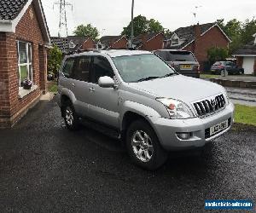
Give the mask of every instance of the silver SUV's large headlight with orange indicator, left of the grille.
M 189 109 L 188 105 L 182 101 L 177 101 L 169 98 L 157 98 L 156 101 L 160 101 L 166 106 L 170 118 L 172 119 L 183 119 L 183 118 L 194 118 L 193 112 Z

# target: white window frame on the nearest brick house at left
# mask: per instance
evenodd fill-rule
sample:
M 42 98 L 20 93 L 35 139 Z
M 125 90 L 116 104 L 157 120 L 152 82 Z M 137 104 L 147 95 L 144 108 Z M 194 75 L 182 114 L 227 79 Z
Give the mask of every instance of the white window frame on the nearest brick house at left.
M 33 81 L 33 67 L 32 67 L 32 43 L 27 43 L 27 42 L 23 42 L 23 41 L 16 41 L 17 43 L 17 49 L 18 49 L 18 69 L 19 69 L 19 87 L 21 88 L 20 86 L 20 66 L 26 66 L 26 69 L 27 69 L 27 73 L 28 73 L 28 76 L 31 76 L 32 79 L 30 79 L 31 81 Z M 26 43 L 26 63 L 21 63 L 20 64 L 20 45 L 19 43 Z M 29 55 L 28 55 L 28 49 L 30 48 L 30 60 L 29 60 Z M 31 66 L 31 71 L 29 69 L 29 66 Z M 30 75 L 30 72 L 31 75 Z

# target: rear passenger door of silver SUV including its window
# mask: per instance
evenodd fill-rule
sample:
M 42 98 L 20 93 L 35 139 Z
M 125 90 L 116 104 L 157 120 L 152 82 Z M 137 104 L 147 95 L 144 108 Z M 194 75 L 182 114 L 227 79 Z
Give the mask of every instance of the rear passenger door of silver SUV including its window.
M 90 56 L 76 57 L 73 68 L 73 94 L 76 97 L 75 110 L 79 116 L 88 116 Z

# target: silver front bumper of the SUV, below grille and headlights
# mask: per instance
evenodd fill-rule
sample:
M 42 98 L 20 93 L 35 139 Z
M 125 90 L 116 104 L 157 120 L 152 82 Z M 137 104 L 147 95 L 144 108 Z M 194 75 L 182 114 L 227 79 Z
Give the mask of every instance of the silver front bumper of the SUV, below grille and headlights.
M 230 119 L 230 126 L 212 137 L 206 139 L 205 130 Z M 230 103 L 224 110 L 207 118 L 167 119 L 149 118 L 160 144 L 166 150 L 183 150 L 195 147 L 203 147 L 208 141 L 212 141 L 219 135 L 230 130 L 234 121 L 234 105 Z M 192 133 L 189 140 L 181 140 L 177 137 L 178 132 Z

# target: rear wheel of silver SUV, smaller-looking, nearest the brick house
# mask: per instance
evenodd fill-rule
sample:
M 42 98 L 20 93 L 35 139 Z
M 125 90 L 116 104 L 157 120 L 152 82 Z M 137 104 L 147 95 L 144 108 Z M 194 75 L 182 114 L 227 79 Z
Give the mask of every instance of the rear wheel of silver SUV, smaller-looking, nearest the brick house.
M 68 130 L 79 130 L 79 117 L 75 112 L 71 101 L 67 101 L 64 104 L 63 115 Z

